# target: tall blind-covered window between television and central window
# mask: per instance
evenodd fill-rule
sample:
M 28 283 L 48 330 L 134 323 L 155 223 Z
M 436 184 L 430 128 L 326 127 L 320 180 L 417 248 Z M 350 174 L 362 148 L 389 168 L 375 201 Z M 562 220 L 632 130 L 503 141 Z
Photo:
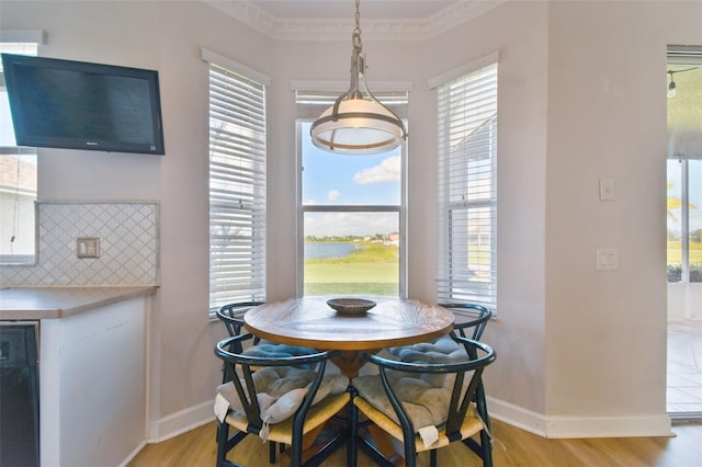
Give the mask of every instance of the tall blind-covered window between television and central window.
M 268 78 L 203 49 L 210 62 L 210 310 L 265 300 Z

